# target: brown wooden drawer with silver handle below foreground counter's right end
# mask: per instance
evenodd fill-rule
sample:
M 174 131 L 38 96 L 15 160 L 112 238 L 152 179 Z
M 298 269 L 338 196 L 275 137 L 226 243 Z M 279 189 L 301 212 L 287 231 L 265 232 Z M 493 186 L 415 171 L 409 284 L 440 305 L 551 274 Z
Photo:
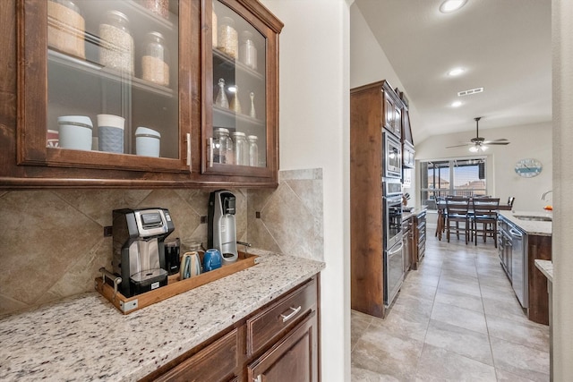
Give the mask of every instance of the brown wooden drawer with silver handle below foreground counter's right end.
M 247 352 L 252 355 L 278 338 L 297 318 L 316 310 L 317 285 L 312 278 L 294 292 L 247 320 Z

